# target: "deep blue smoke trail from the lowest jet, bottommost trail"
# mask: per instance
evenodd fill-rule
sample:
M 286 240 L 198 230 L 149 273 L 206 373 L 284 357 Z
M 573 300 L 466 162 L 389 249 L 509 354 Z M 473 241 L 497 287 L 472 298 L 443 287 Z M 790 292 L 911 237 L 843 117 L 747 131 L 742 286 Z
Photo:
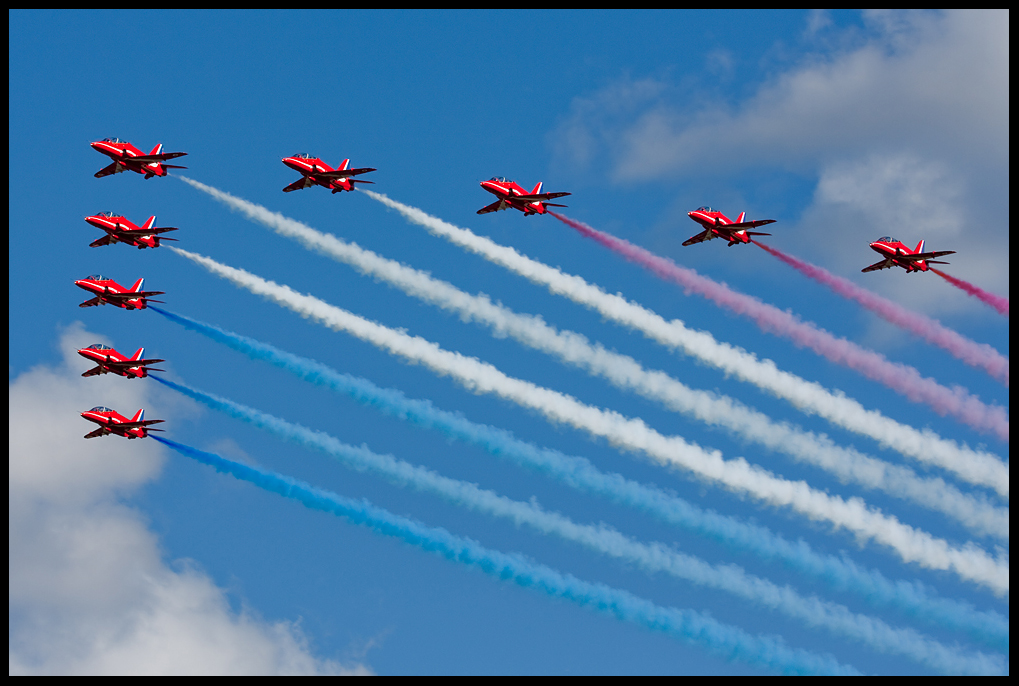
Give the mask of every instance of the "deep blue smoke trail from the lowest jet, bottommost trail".
M 628 591 L 582 581 L 522 556 L 492 550 L 470 538 L 454 536 L 445 529 L 427 527 L 378 508 L 368 500 L 342 497 L 276 472 L 242 465 L 167 438 L 156 438 L 177 453 L 218 472 L 296 499 L 310 510 L 328 512 L 353 524 L 366 526 L 376 533 L 398 538 L 451 562 L 481 570 L 497 579 L 509 580 L 551 597 L 571 600 L 583 608 L 703 646 L 723 658 L 739 659 L 787 674 L 856 674 L 853 668 L 838 664 L 834 657 L 790 648 L 781 639 L 752 636 L 742 629 L 721 624 L 694 611 L 655 605 Z

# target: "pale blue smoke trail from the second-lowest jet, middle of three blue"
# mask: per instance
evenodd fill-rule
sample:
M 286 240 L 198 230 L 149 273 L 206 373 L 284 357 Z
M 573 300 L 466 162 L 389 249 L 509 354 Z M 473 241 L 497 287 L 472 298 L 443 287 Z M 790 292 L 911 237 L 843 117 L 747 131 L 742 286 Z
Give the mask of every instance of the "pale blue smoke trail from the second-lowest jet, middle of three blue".
M 285 440 L 321 451 L 357 471 L 373 472 L 398 486 L 409 485 L 453 505 L 508 519 L 517 525 L 530 526 L 542 534 L 555 535 L 601 555 L 632 563 L 646 572 L 664 572 L 684 581 L 737 595 L 808 626 L 860 641 L 880 652 L 905 655 L 946 674 L 1004 674 L 1006 671 L 1000 655 L 990 656 L 979 651 L 964 654 L 960 649 L 950 648 L 913 629 L 892 627 L 877 618 L 853 613 L 843 604 L 801 595 L 789 586 L 780 586 L 748 574 L 737 565 L 712 565 L 664 543 L 641 543 L 605 524 L 578 524 L 569 517 L 544 510 L 533 500 L 514 500 L 476 484 L 397 460 L 391 455 L 378 455 L 365 446 L 348 445 L 325 432 L 293 424 L 225 398 L 159 376 L 153 378 L 207 407 Z

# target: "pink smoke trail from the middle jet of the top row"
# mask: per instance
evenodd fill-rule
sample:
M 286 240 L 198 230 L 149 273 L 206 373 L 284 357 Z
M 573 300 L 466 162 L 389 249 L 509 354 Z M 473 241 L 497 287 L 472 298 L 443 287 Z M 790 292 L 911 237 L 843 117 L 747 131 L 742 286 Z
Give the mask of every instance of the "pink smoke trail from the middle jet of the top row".
M 687 293 L 704 296 L 732 312 L 750 317 L 763 331 L 791 338 L 796 345 L 809 348 L 832 362 L 883 383 L 914 403 L 925 403 L 942 416 L 954 417 L 974 429 L 993 433 L 1002 440 L 1009 439 L 1009 417 L 1005 409 L 985 405 L 962 386 L 947 388 L 931 378 L 921 376 L 913 367 L 891 362 L 879 353 L 861 348 L 845 338 L 837 338 L 790 312 L 783 312 L 752 296 L 733 291 L 723 283 L 701 276 L 693 269 L 679 266 L 668 258 L 654 255 L 628 241 L 556 212 L 549 211 L 549 214 L 582 235 L 597 241 L 631 262 L 650 270 L 659 278 L 679 283 Z

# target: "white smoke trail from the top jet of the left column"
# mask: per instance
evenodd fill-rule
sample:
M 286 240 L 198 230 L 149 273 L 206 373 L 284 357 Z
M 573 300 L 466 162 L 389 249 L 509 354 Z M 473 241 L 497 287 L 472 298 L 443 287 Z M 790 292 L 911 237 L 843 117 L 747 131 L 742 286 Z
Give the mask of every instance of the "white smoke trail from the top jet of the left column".
M 591 345 L 583 334 L 557 331 L 540 317 L 519 314 L 492 303 L 484 295 L 464 293 L 426 272 L 317 231 L 261 205 L 199 181 L 183 180 L 277 233 L 350 264 L 363 274 L 382 279 L 410 296 L 454 312 L 465 320 L 486 324 L 498 335 L 513 336 L 526 346 L 602 376 L 618 387 L 634 390 L 664 404 L 671 410 L 721 426 L 742 438 L 820 467 L 836 474 L 844 483 L 853 482 L 882 490 L 895 497 L 943 512 L 980 534 L 1008 538 L 1008 511 L 995 508 L 984 498 L 964 495 L 943 479 L 920 478 L 908 468 L 875 460 L 853 448 L 841 447 L 827 436 L 817 436 L 785 422 L 773 422 L 763 413 L 734 399 L 695 390 L 662 371 L 646 370 L 631 357 L 606 351 L 600 345 Z

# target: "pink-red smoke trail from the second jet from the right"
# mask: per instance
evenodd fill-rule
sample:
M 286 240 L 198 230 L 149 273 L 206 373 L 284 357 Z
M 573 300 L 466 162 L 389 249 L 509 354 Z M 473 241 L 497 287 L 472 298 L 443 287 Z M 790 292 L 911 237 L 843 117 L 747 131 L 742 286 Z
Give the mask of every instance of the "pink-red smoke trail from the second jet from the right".
M 855 300 L 882 319 L 915 333 L 927 342 L 945 349 L 966 364 L 983 369 L 1006 386 L 1009 385 L 1009 359 L 990 346 L 970 340 L 930 317 L 910 312 L 875 293 L 861 288 L 848 278 L 836 276 L 826 269 L 804 262 L 757 241 L 754 243 L 761 250 L 774 255 L 800 273 L 806 274 L 815 281 L 820 281 L 840 296 Z M 1006 307 L 1008 307 L 1007 303 L 1008 301 L 1006 301 Z

